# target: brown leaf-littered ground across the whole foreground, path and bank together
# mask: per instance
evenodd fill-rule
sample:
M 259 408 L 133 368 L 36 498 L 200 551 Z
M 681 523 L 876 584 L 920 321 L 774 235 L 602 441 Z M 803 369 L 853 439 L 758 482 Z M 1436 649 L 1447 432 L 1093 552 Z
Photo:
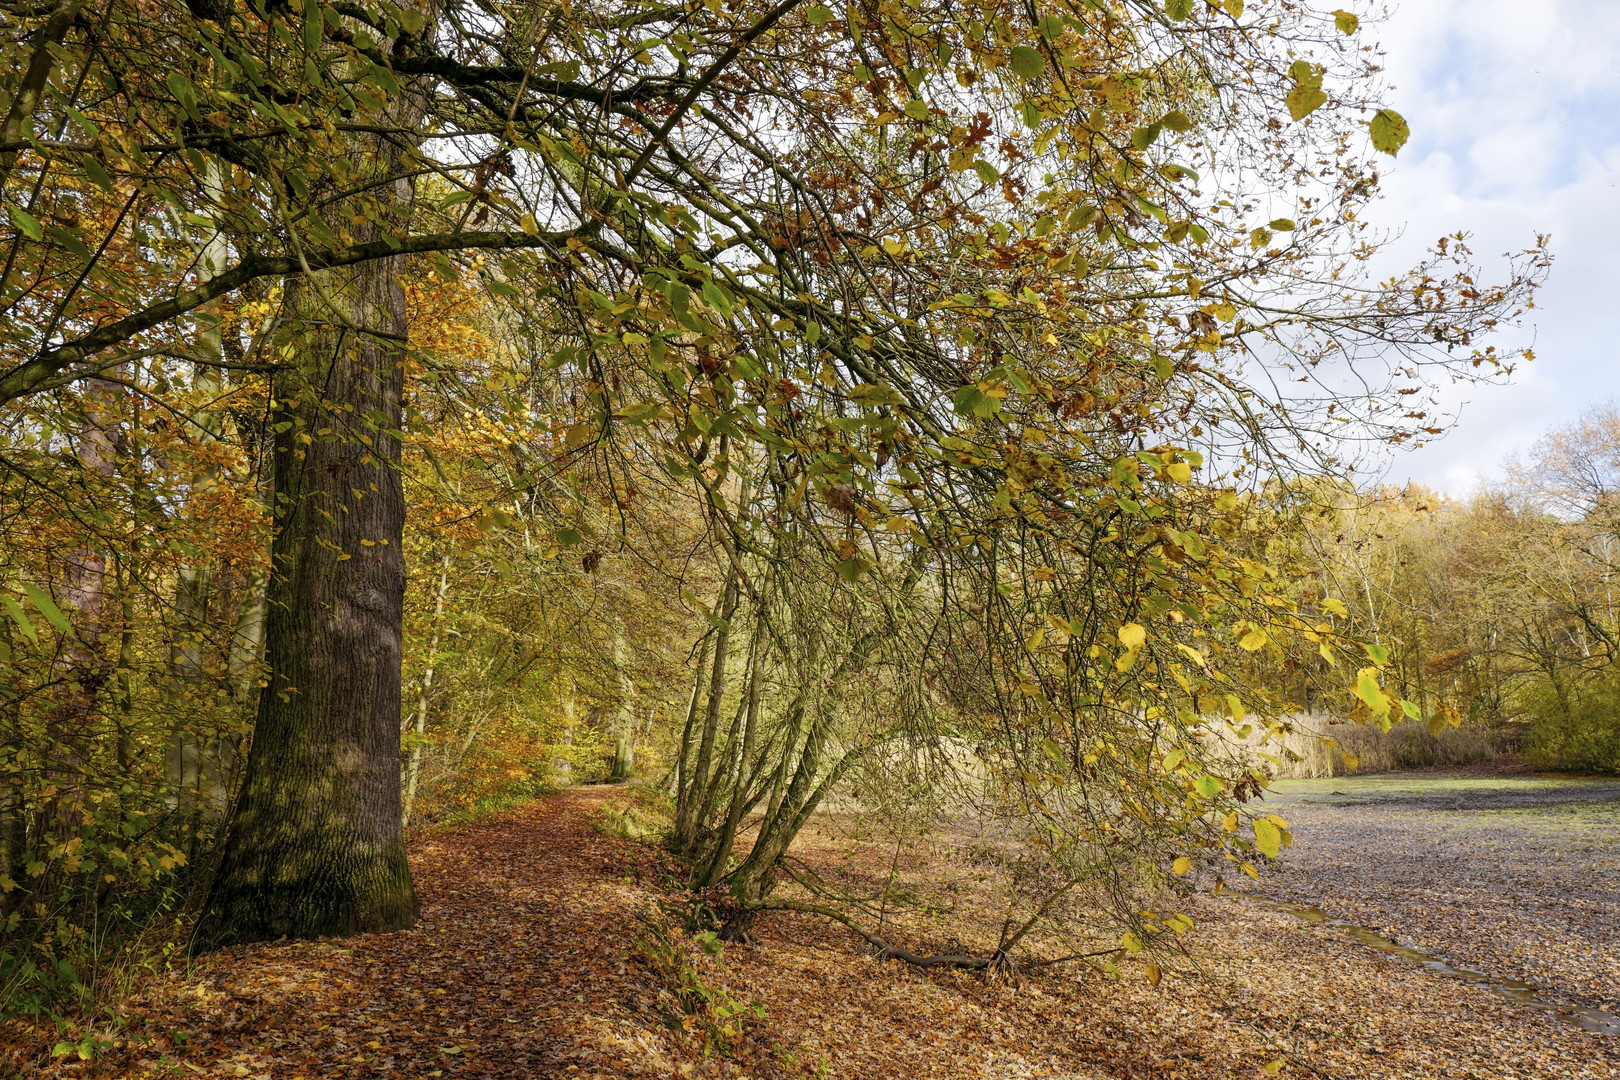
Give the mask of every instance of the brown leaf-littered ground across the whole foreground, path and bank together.
M 701 1080 L 1332 1080 L 1620 1077 L 1620 1038 L 1580 1031 L 1435 978 L 1328 928 L 1192 899 L 1194 954 L 1152 986 L 1063 965 L 1017 984 L 880 962 L 825 920 L 781 913 L 758 947 L 690 975 L 760 1002 L 735 1057 L 705 1052 L 637 955 L 638 916 L 669 899 L 666 857 L 596 831 L 625 789 L 588 787 L 436 831 L 411 845 L 416 929 L 269 942 L 201 959 L 122 1006 L 96 1062 L 50 1062 L 53 1036 L 0 1049 L 0 1075 L 214 1080 L 671 1077 Z M 838 858 L 815 837 L 810 861 Z M 910 944 L 927 928 L 896 926 Z M 966 928 L 964 933 L 972 933 Z M 104 1033 L 105 1035 L 105 1033 Z M 1278 1065 L 1278 1062 L 1281 1062 Z M 1267 1072 L 1278 1065 L 1281 1074 Z

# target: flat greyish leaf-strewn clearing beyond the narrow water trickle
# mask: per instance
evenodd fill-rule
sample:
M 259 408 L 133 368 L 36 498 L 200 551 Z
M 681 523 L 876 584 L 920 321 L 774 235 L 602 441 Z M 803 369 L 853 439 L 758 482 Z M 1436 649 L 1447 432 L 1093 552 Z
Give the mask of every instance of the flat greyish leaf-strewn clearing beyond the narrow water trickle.
M 1264 891 L 1541 997 L 1620 1015 L 1620 780 L 1285 780 Z

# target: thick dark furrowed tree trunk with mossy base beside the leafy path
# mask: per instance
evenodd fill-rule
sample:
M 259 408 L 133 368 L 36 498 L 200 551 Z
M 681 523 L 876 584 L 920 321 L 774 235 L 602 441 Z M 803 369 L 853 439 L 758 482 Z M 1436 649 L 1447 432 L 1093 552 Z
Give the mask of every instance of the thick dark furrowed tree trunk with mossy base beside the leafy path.
M 413 113 L 394 117 L 400 126 L 420 118 L 400 112 Z M 355 157 L 399 175 L 402 152 L 386 138 Z M 379 199 L 395 235 L 410 198 L 400 180 Z M 400 813 L 399 270 L 382 259 L 288 283 L 296 340 L 275 382 L 271 685 L 201 928 L 211 944 L 402 929 L 416 916 Z

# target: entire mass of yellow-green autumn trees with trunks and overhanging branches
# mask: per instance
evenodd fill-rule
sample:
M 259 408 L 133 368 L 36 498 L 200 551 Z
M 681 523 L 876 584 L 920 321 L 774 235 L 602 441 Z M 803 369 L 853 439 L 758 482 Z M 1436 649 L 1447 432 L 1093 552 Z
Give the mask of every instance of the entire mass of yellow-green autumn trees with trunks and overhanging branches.
M 565 784 L 688 929 L 978 970 L 1179 936 L 1280 772 L 1620 767 L 1615 413 L 1346 479 L 1549 266 L 1372 272 L 1349 11 L 0 8 L 8 1012 L 408 926 L 407 829 Z M 972 823 L 1000 939 L 880 938 L 828 806 Z

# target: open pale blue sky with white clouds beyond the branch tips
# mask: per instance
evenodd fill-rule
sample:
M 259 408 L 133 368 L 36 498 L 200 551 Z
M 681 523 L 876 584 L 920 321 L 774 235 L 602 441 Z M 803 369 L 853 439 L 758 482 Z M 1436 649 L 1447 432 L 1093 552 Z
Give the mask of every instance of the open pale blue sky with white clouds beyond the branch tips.
M 1387 461 L 1387 483 L 1468 495 L 1549 427 L 1620 398 L 1620 3 L 1405 0 L 1362 32 L 1383 44 L 1413 131 L 1372 220 L 1405 230 L 1408 253 L 1473 233 L 1487 280 L 1503 253 L 1552 238 L 1536 309 L 1498 342 L 1536 359 L 1508 385 L 1448 387 L 1456 427 Z

